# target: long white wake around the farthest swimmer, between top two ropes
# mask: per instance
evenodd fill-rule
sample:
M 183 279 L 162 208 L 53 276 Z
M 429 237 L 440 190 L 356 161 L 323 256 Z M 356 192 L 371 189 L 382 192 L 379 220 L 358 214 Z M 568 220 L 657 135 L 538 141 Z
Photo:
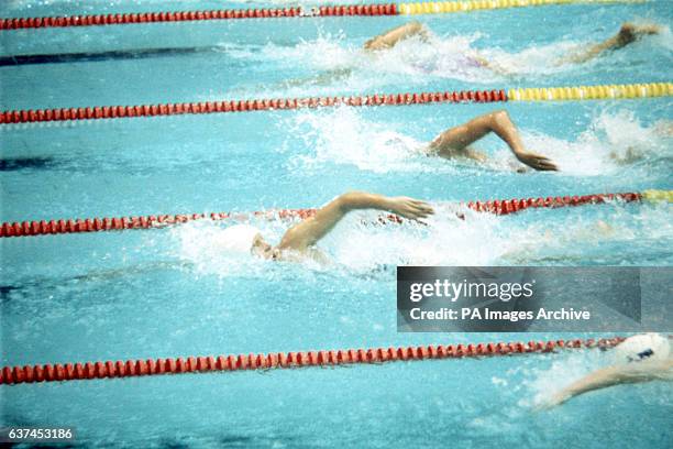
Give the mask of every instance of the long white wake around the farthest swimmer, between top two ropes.
M 643 24 L 643 28 L 649 26 Z M 397 84 L 427 85 L 443 79 L 473 84 L 510 83 L 523 76 L 549 76 L 577 70 L 595 64 L 604 57 L 624 59 L 628 50 L 610 52 L 610 40 L 606 48 L 592 53 L 602 44 L 588 41 L 563 40 L 548 45 L 533 44 L 518 52 L 478 45 L 484 35 L 439 35 L 427 31 L 397 42 L 385 51 L 371 52 L 363 42 L 346 39 L 343 32 L 320 34 L 312 41 L 300 41 L 294 46 L 269 43 L 238 52 L 238 57 L 251 57 L 256 62 L 295 70 L 306 67 L 318 75 L 286 79 L 275 86 L 256 86 L 255 92 L 268 96 L 305 96 L 308 89 L 320 88 L 324 95 L 343 94 L 345 90 L 376 89 Z M 630 41 L 632 42 L 632 41 Z M 629 42 L 629 43 L 630 43 Z M 616 48 L 622 43 L 613 43 Z M 648 36 L 642 45 L 670 50 L 673 47 L 671 31 L 658 26 L 658 35 Z M 577 59 L 577 61 L 574 61 Z M 629 58 L 629 61 L 632 57 Z M 621 64 L 629 61 L 618 61 Z M 632 63 L 632 61 L 631 61 Z M 629 63 L 629 64 L 631 64 Z M 315 94 L 315 92 L 313 92 Z

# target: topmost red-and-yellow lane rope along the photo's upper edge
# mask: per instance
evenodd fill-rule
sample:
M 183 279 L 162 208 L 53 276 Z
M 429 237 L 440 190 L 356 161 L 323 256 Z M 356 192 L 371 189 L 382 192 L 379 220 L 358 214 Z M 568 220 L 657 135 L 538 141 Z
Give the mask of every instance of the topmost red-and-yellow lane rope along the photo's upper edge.
M 264 8 L 243 10 L 210 11 L 161 11 L 137 13 L 81 14 L 42 18 L 3 18 L 0 30 L 123 25 L 133 23 L 196 22 L 231 19 L 271 19 L 271 18 L 324 18 L 342 15 L 380 17 L 402 14 L 438 14 L 449 12 L 468 12 L 504 8 L 540 7 L 550 4 L 606 4 L 641 3 L 644 0 L 464 0 L 418 3 L 373 3 L 347 6 L 322 6 L 313 8 Z

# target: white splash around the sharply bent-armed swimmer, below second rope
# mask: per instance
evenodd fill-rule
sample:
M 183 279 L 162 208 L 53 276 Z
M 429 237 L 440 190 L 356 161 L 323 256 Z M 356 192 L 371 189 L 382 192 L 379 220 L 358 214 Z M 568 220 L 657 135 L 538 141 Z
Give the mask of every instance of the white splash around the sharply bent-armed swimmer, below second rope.
M 293 168 L 311 169 L 320 164 L 349 164 L 375 173 L 422 172 L 456 173 L 465 160 L 428 157 L 423 141 L 405 132 L 408 122 L 394 120 L 384 123 L 367 119 L 368 114 L 353 108 L 329 111 L 302 111 L 283 121 L 288 130 L 283 144 L 286 152 L 307 149 L 294 157 Z M 448 123 L 457 125 L 460 123 Z M 671 124 L 666 121 L 646 127 L 632 112 L 600 112 L 576 140 L 529 131 L 521 127 L 527 149 L 543 153 L 554 161 L 564 176 L 604 176 L 611 173 L 629 173 L 630 176 L 668 176 L 673 164 Z M 435 134 L 443 129 L 438 128 Z M 489 157 L 482 166 L 490 171 L 515 172 L 523 167 L 514 160 L 511 152 L 500 144 L 492 149 L 488 143 L 474 145 L 489 150 Z

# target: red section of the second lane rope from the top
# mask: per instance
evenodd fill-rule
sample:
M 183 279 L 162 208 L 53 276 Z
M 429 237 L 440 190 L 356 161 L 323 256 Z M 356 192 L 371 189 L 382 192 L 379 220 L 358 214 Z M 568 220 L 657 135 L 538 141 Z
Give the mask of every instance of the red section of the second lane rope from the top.
M 351 97 L 305 97 L 256 100 L 201 101 L 186 103 L 93 106 L 84 108 L 30 109 L 0 112 L 0 124 L 38 123 L 73 120 L 103 120 L 134 117 L 183 116 L 197 113 L 249 112 L 338 106 L 397 106 L 431 102 L 507 101 L 505 90 L 376 94 Z

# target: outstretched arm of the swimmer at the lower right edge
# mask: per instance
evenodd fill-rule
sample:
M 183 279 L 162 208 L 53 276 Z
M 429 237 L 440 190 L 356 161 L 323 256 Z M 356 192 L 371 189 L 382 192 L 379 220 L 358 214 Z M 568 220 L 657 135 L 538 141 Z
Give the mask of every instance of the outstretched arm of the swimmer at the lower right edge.
M 559 393 L 545 405 L 547 408 L 561 405 L 566 401 L 595 390 L 609 386 L 641 383 L 665 379 L 665 374 L 673 368 L 671 360 L 663 363 L 643 363 L 641 365 L 608 366 L 595 371 L 585 377 L 572 383 Z

